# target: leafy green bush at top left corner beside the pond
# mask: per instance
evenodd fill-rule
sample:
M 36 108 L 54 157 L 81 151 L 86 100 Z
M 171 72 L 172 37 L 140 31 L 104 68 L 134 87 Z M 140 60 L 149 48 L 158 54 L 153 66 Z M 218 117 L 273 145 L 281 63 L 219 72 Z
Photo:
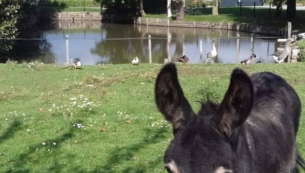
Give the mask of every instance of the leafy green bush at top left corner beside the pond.
M 0 0 L 0 38 L 14 39 L 18 35 L 19 3 L 20 0 Z M 10 50 L 12 45 L 10 40 L 0 40 L 0 51 Z

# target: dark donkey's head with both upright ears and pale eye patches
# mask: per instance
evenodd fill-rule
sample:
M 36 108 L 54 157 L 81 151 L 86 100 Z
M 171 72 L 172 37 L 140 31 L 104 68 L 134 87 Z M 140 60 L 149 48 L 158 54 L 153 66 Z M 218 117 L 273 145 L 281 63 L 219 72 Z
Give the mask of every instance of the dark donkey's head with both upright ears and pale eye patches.
M 174 138 L 164 156 L 168 172 L 235 172 L 234 136 L 253 104 L 253 85 L 240 69 L 231 75 L 228 91 L 217 105 L 202 104 L 195 114 L 185 98 L 174 64 L 167 64 L 156 81 L 156 103 L 171 122 Z

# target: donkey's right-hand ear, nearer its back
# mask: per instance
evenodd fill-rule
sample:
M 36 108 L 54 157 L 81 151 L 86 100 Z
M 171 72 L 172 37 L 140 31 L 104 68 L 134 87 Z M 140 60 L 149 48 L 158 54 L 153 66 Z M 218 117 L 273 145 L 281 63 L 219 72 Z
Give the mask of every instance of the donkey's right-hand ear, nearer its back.
M 249 76 L 241 69 L 234 69 L 228 91 L 214 116 L 218 130 L 229 138 L 234 128 L 249 116 L 253 97 L 254 89 Z

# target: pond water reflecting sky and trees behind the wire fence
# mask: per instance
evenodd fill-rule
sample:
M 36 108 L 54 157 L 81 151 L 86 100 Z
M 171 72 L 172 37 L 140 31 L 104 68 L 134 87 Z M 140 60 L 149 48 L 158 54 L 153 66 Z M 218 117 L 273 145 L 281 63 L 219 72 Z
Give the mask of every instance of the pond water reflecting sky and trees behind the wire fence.
M 237 34 L 241 37 L 239 44 Z M 19 62 L 39 59 L 44 63 L 65 63 L 66 35 L 69 35 L 70 59 L 78 57 L 84 65 L 130 63 L 135 56 L 139 57 L 140 63 L 148 63 L 148 35 L 152 37 L 153 63 L 175 61 L 184 54 L 189 57 L 191 64 L 203 63 L 205 54 L 212 48 L 212 39 L 215 40 L 218 50 L 218 57 L 215 60 L 218 63 L 238 63 L 249 57 L 252 52 L 257 55 L 255 61 L 273 63 L 272 57 L 268 57 L 268 54 L 281 46 L 276 38 L 256 38 L 262 37 L 256 34 L 253 35 L 252 43 L 250 33 L 236 31 L 111 24 L 99 21 L 63 21 L 20 35 L 20 38 L 41 40 L 16 40 L 12 52 L 0 52 L 0 59 L 2 62 L 11 58 Z

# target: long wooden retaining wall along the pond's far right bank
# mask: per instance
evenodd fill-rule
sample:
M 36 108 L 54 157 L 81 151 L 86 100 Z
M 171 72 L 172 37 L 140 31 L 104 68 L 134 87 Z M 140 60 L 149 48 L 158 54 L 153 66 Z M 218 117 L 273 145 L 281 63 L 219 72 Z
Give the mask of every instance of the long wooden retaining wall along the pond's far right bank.
M 145 18 L 138 17 L 134 18 L 135 24 L 140 25 L 151 25 L 151 26 L 168 26 L 168 27 L 193 27 L 193 28 L 212 28 L 212 29 L 223 29 L 233 30 L 256 34 L 265 34 L 272 36 L 286 37 L 287 31 L 285 28 L 271 27 L 271 26 L 260 26 L 251 24 L 238 24 L 238 23 L 225 23 L 225 22 L 196 22 L 196 21 L 173 21 L 169 19 L 158 19 L 158 18 Z

